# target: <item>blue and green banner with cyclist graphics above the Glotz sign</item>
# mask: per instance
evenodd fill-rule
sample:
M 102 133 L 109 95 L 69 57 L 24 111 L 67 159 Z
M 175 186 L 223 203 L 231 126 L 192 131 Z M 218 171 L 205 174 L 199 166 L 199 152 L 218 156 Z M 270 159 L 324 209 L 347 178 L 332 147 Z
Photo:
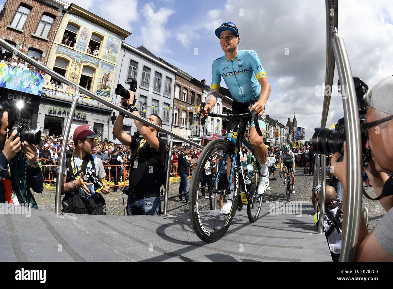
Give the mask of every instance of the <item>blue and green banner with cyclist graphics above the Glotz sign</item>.
M 41 74 L 0 63 L 0 87 L 41 96 L 42 85 Z

